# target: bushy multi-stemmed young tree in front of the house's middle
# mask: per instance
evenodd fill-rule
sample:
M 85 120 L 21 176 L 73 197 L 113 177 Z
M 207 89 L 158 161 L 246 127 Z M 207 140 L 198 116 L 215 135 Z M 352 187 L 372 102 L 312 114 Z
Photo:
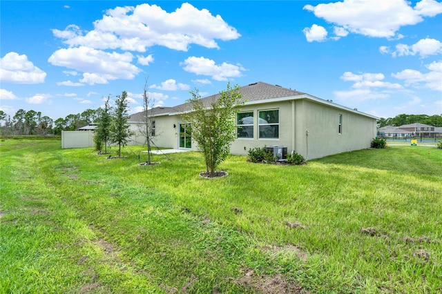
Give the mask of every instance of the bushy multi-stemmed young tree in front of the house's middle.
M 215 177 L 215 170 L 226 159 L 230 146 L 236 139 L 236 113 L 242 105 L 239 86 L 220 92 L 220 97 L 212 101 L 209 106 L 202 101 L 198 89 L 190 92 L 191 111 L 186 113 L 184 121 L 190 124 L 192 138 L 206 161 L 206 173 Z

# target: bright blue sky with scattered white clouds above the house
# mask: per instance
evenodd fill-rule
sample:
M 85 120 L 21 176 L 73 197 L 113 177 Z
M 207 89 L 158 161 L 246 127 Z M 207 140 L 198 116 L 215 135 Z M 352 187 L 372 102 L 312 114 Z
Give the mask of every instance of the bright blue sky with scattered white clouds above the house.
M 1 1 L 0 109 L 52 119 L 128 92 L 278 84 L 376 115 L 442 114 L 442 1 Z

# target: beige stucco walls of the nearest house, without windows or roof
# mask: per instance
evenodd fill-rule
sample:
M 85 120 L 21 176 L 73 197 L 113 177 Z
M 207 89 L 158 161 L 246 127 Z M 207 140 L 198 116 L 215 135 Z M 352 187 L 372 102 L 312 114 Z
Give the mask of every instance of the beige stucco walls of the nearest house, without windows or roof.
M 279 138 L 259 139 L 258 111 L 273 109 L 279 110 Z M 253 138 L 233 141 L 231 153 L 236 155 L 247 155 L 250 148 L 282 145 L 287 146 L 289 153 L 293 150 L 306 159 L 315 159 L 369 148 L 370 142 L 376 137 L 376 119 L 306 99 L 246 105 L 240 111 L 253 111 Z M 339 115 L 343 116 L 342 134 L 338 133 Z M 180 115 L 155 117 L 155 145 L 179 148 L 178 132 L 182 123 Z M 135 126 L 133 130 L 136 130 Z M 309 135 L 306 135 L 307 130 Z M 137 136 L 133 141 L 144 144 L 144 138 Z M 197 150 L 195 142 L 192 142 L 192 149 Z

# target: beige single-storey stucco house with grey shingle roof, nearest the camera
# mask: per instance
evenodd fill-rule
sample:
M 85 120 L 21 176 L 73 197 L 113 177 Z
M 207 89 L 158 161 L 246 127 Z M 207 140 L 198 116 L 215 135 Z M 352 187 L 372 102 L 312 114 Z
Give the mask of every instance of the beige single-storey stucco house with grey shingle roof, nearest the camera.
M 369 148 L 376 137 L 378 118 L 356 109 L 263 82 L 239 90 L 244 105 L 236 117 L 237 139 L 231 145 L 232 154 L 247 155 L 250 148 L 278 145 L 314 159 Z M 203 101 L 209 106 L 218 97 L 220 94 Z M 197 150 L 189 127 L 182 120 L 189 104 L 149 111 L 155 121 L 156 146 Z M 143 112 L 128 119 L 136 133 L 132 140 L 138 144 L 144 144 L 144 137 L 137 131 L 142 121 Z

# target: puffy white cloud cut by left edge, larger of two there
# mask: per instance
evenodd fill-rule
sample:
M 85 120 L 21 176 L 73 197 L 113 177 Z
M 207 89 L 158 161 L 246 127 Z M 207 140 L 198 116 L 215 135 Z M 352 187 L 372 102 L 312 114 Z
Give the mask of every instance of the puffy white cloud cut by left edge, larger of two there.
M 44 83 L 46 72 L 37 68 L 26 55 L 9 52 L 0 58 L 0 81 L 17 84 Z

